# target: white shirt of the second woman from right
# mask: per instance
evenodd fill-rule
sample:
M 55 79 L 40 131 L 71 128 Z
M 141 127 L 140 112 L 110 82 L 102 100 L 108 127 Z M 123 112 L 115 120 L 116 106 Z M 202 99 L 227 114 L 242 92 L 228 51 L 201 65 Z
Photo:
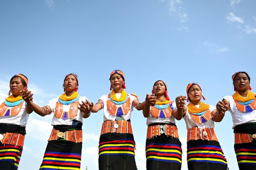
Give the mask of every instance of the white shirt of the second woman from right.
M 200 105 L 195 105 L 195 107 L 199 108 Z M 216 108 L 213 105 L 209 105 L 210 112 L 212 113 L 213 110 L 216 110 Z M 199 127 L 199 128 L 214 128 L 214 121 L 209 119 L 208 122 L 205 123 L 196 123 L 192 117 L 189 114 L 188 108 L 186 106 L 186 115 L 183 117 L 183 119 L 186 122 L 186 128 L 189 130 L 191 127 Z

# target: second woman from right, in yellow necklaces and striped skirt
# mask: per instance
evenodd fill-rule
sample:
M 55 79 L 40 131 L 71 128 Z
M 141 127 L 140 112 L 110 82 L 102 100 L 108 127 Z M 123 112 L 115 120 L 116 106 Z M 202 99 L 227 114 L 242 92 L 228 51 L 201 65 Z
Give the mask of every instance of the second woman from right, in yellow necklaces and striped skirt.
M 183 113 L 188 130 L 188 169 L 227 170 L 227 160 L 214 132 L 214 122 L 221 122 L 224 114 L 218 114 L 214 106 L 201 102 L 201 98 L 205 98 L 197 83 L 190 83 L 186 93 L 190 102 Z

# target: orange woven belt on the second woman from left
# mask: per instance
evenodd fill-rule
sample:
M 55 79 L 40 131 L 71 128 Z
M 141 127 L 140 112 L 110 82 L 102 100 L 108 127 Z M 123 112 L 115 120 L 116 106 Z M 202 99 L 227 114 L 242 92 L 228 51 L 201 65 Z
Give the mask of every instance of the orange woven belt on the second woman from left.
M 59 130 L 53 128 L 48 141 L 58 140 L 60 138 L 78 143 L 83 141 L 83 133 L 82 130 L 69 130 L 66 132 L 60 132 Z

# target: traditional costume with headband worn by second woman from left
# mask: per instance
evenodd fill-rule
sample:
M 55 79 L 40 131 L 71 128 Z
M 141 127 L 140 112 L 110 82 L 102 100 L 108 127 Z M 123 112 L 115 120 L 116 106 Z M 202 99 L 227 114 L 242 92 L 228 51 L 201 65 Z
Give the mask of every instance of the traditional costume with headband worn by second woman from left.
M 70 97 L 64 93 L 43 107 L 46 114 L 54 113 L 54 116 L 40 170 L 80 170 L 83 117 L 78 107 L 87 98 L 76 91 Z

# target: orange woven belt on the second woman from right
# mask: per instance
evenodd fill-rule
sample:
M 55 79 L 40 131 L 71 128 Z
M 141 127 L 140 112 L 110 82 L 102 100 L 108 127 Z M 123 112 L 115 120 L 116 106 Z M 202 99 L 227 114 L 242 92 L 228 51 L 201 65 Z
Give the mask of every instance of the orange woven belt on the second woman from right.
M 213 128 L 198 128 L 198 127 L 189 128 L 187 133 L 187 142 L 191 140 L 198 140 L 198 139 L 218 142 L 218 138 L 215 135 Z

